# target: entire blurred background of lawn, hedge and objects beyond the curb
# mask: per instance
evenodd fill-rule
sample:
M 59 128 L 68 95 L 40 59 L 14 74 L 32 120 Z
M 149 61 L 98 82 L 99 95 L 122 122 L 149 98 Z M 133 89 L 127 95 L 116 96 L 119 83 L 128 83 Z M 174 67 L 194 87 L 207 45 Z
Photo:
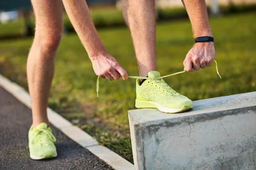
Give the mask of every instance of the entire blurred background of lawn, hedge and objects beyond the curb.
M 256 91 L 256 0 L 207 0 L 215 64 L 166 78 L 192 100 Z M 130 76 L 138 69 L 120 1 L 87 0 L 93 22 L 109 54 Z M 157 0 L 157 67 L 162 75 L 183 71 L 194 44 L 191 24 L 180 0 Z M 28 90 L 26 59 L 35 31 L 29 0 L 0 1 L 0 74 Z M 55 62 L 49 107 L 133 162 L 127 111 L 135 109 L 135 80 L 108 81 L 97 76 L 67 14 Z

